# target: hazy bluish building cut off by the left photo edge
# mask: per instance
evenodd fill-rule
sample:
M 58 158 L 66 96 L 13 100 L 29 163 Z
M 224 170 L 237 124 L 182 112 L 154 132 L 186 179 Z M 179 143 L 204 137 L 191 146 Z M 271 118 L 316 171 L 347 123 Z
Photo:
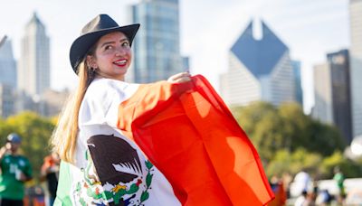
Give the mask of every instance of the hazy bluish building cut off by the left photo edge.
M 12 42 L 6 36 L 0 39 L 0 84 L 16 89 L 16 61 Z

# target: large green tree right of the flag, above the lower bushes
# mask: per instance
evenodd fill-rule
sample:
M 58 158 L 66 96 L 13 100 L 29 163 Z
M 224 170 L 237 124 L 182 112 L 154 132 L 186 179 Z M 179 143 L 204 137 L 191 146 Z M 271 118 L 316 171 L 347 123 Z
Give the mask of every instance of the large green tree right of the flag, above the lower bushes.
M 346 146 L 336 127 L 304 115 L 296 103 L 275 108 L 270 103 L 255 102 L 247 107 L 232 108 L 232 112 L 265 163 L 281 149 L 293 153 L 304 148 L 327 156 Z

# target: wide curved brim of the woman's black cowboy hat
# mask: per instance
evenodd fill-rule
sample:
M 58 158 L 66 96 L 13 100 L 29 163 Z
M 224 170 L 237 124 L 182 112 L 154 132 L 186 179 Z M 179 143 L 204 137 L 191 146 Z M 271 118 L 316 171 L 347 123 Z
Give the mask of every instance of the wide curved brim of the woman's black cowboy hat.
M 75 73 L 78 73 L 78 66 L 83 60 L 85 54 L 90 50 L 90 47 L 94 45 L 94 43 L 96 43 L 103 35 L 113 32 L 124 33 L 127 36 L 127 38 L 129 38 L 129 45 L 131 46 L 133 39 L 138 31 L 138 28 L 139 28 L 139 23 L 135 23 L 135 24 L 130 24 L 126 26 L 117 26 L 81 35 L 71 44 L 71 52 L 70 52 L 71 68 L 74 70 Z

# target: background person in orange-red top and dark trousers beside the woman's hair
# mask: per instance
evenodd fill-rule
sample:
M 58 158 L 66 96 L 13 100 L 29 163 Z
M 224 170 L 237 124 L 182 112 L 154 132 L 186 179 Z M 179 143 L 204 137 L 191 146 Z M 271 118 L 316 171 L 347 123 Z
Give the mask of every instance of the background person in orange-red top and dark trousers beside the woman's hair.
M 41 181 L 46 181 L 49 192 L 49 205 L 52 205 L 58 187 L 59 166 L 61 159 L 57 153 L 52 153 L 44 158 L 41 169 Z

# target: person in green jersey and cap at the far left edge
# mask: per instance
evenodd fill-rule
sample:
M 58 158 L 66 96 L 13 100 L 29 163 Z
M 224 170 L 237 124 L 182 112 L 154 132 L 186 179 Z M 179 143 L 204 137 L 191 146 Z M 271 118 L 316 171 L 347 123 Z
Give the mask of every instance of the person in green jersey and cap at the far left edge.
M 24 183 L 32 179 L 32 167 L 19 155 L 21 137 L 12 133 L 0 149 L 0 206 L 24 205 Z

